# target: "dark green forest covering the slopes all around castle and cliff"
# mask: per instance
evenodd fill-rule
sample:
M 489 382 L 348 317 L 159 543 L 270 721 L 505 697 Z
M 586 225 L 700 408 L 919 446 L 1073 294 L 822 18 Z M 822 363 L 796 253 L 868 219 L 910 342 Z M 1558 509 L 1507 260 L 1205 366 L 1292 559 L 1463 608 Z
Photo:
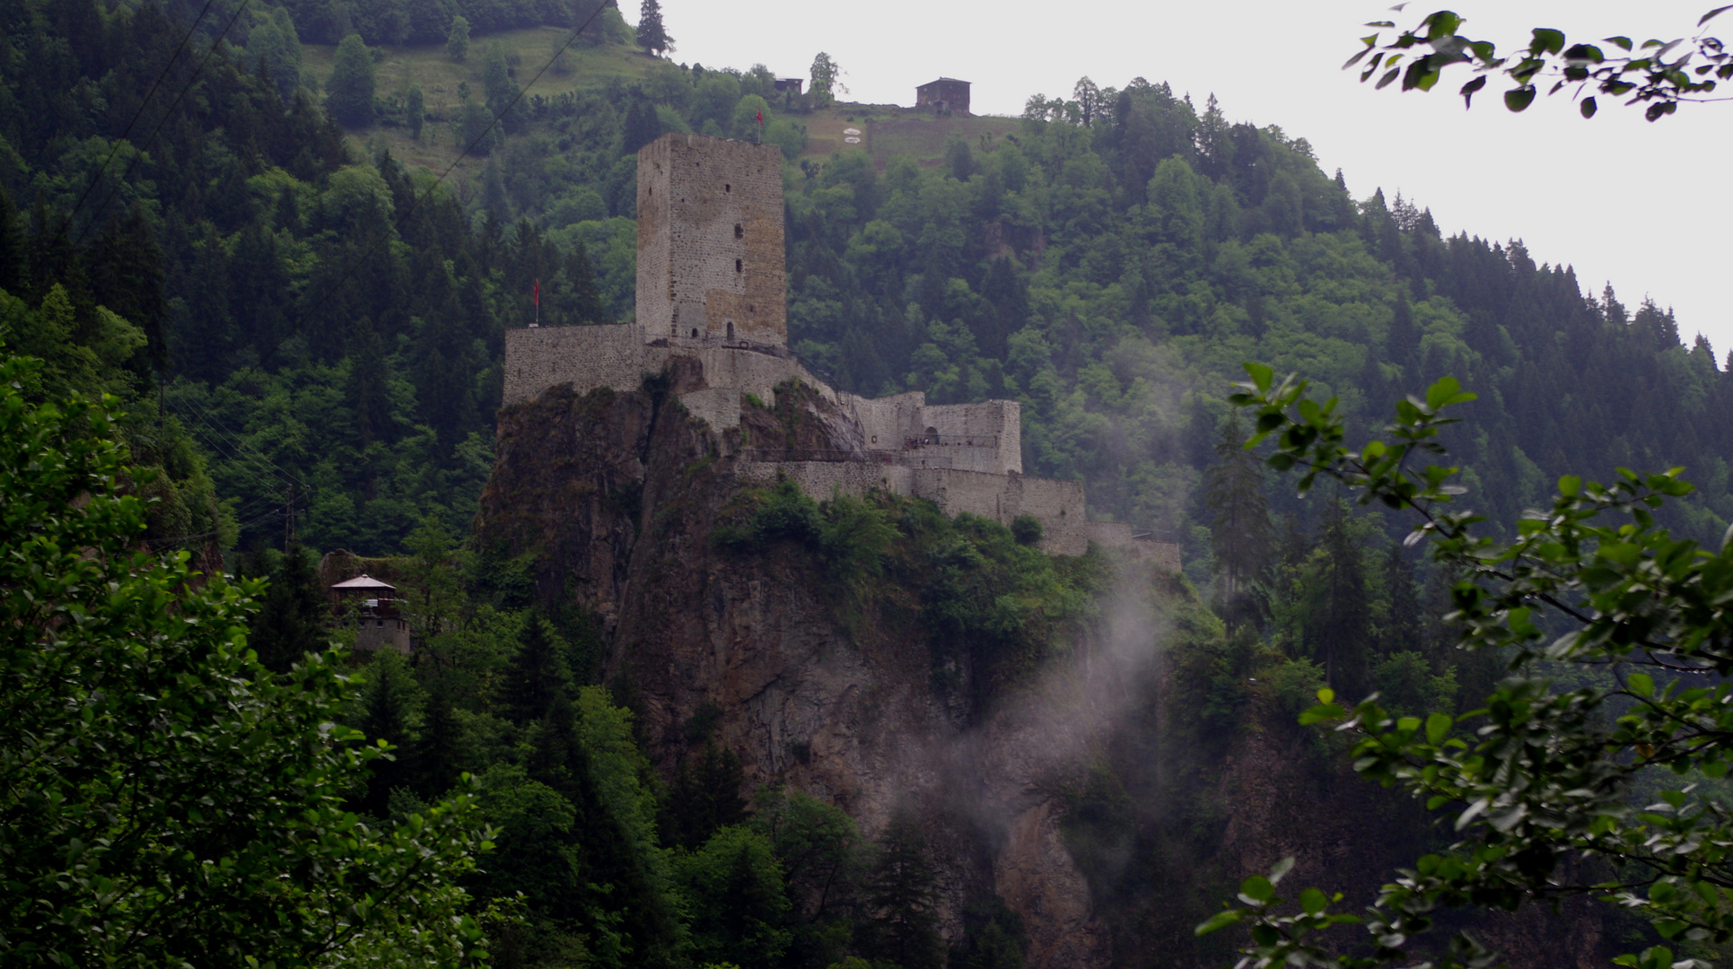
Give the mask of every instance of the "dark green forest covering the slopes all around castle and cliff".
M 544 26 L 582 26 L 575 49 L 641 69 L 525 95 L 541 64 L 490 36 Z M 326 80 L 303 66 L 314 45 L 334 47 Z M 473 90 L 435 113 L 419 88 L 380 88 L 383 47 L 468 64 Z M 665 132 L 783 149 L 790 347 L 815 374 L 863 395 L 1019 400 L 1028 473 L 1085 482 L 1092 517 L 1182 546 L 1165 595 L 1175 695 L 1198 716 L 1173 777 L 1206 773 L 1256 702 L 1298 732 L 1291 714 L 1324 685 L 1457 711 L 1499 676 L 1497 657 L 1452 650 L 1456 576 L 1397 543 L 1405 522 L 1327 489 L 1301 501 L 1239 447 L 1251 428 L 1227 397 L 1244 361 L 1305 373 L 1350 437 L 1457 378 L 1478 400 L 1442 440 L 1494 522 L 1548 503 L 1565 473 L 1684 466 L 1697 492 L 1665 524 L 1702 541 L 1733 524 L 1733 355 L 1719 366 L 1664 295 L 1537 265 L 1520 239 L 1444 236 L 1423 199 L 1324 172 L 1303 137 L 1213 95 L 1083 78 L 1069 99 L 1031 97 L 1016 133 L 953 137 L 941 158 L 813 158 L 821 106 L 778 94 L 766 68 L 638 47 L 591 0 L 0 5 L 0 341 L 42 361 L 14 395 L 114 395 L 113 433 L 153 499 L 142 543 L 269 579 L 248 641 L 272 674 L 329 636 L 321 553 L 407 589 L 426 648 L 357 664 L 340 707 L 397 756 L 345 797 L 404 820 L 473 775 L 496 848 L 464 884 L 499 966 L 1022 966 L 1017 917 L 993 898 L 941 945 L 918 818 L 866 837 L 806 794 L 743 790 L 705 716 L 686 725 L 697 754 L 659 773 L 631 683 L 601 683 L 594 617 L 549 608 L 529 563 L 470 539 L 504 331 L 532 314 L 631 319 L 636 151 Z M 470 149 L 444 180 L 385 147 L 435 132 Z M 754 501 L 730 539 L 742 555 L 787 539 L 821 558 L 825 536 L 865 527 L 872 582 L 918 584 L 934 643 L 1003 662 L 988 693 L 1047 634 L 1005 633 L 1022 614 L 1003 596 L 1057 628 L 1102 584 L 1095 556 L 1054 562 L 908 503 Z M 889 579 L 880 558 L 899 563 Z M 1225 884 L 1218 806 L 1146 815 L 1123 768 L 1087 768 L 1066 820 L 1116 938 L 1173 929 L 1223 955 L 1187 922 Z M 1097 851 L 1114 839 L 1159 841 L 1166 862 L 1116 867 Z M 1152 912 L 1178 877 L 1196 884 L 1168 926 Z

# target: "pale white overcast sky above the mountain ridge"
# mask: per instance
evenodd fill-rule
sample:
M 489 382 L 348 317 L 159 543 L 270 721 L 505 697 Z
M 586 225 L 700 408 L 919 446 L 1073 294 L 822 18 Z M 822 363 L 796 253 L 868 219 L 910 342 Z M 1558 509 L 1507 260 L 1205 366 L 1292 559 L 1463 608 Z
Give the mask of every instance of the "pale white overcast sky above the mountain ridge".
M 1672 40 L 1695 31 L 1714 0 L 1456 0 L 1461 33 L 1501 52 L 1553 26 L 1575 40 L 1631 35 Z M 636 21 L 633 0 L 620 0 Z M 913 104 L 915 85 L 939 75 L 974 81 L 977 114 L 1021 114 L 1031 94 L 1071 95 L 1088 75 L 1100 87 L 1133 76 L 1168 81 L 1203 109 L 1215 92 L 1232 121 L 1281 125 L 1312 142 L 1324 172 L 1341 168 L 1364 198 L 1383 187 L 1431 206 L 1445 234 L 1522 237 L 1535 262 L 1570 263 L 1584 288 L 1612 281 L 1619 300 L 1672 305 L 1690 340 L 1702 331 L 1724 357 L 1733 347 L 1726 298 L 1728 217 L 1733 215 L 1733 102 L 1683 106 L 1653 125 L 1641 109 L 1601 99 L 1584 121 L 1561 92 L 1523 114 L 1499 102 L 1497 80 L 1473 111 L 1452 92 L 1374 92 L 1341 62 L 1366 21 L 1418 21 L 1360 0 L 1241 0 L 1173 3 L 1095 0 L 662 0 L 674 59 L 712 68 L 768 64 L 804 76 L 813 54 L 844 69 L 853 101 Z M 1714 21 L 1733 38 L 1733 12 Z M 1449 85 L 1449 92 L 1444 87 Z M 1719 94 L 1719 92 L 1717 92 Z M 1733 87 L 1726 94 L 1733 94 Z M 1719 161 L 1717 161 L 1719 159 Z M 1721 229 L 1717 232 L 1717 229 Z

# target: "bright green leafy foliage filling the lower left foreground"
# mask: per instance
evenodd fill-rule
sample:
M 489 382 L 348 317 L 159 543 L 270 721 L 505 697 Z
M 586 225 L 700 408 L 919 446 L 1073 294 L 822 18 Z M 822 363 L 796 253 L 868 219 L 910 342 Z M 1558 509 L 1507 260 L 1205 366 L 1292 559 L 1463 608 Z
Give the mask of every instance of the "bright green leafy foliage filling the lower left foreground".
M 333 726 L 340 657 L 258 666 L 260 584 L 139 550 L 114 418 L 28 402 L 38 371 L 0 362 L 5 960 L 485 959 L 458 888 L 485 848 L 473 796 L 357 823 L 345 789 L 383 751 Z

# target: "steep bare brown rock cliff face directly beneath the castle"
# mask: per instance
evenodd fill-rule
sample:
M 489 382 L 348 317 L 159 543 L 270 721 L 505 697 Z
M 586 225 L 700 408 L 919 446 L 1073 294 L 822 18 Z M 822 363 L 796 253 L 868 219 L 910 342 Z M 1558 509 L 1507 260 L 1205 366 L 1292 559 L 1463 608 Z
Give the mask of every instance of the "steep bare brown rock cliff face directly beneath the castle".
M 735 477 L 737 454 L 860 442 L 799 387 L 771 407 L 745 404 L 743 430 L 717 437 L 674 399 L 700 388 L 704 374 L 681 361 L 639 392 L 555 388 L 501 411 L 480 539 L 535 551 L 539 593 L 601 619 L 605 674 L 629 681 L 659 764 L 676 763 L 683 725 L 714 704 L 712 737 L 740 754 L 749 787 L 802 789 L 868 834 L 915 808 L 941 868 L 946 934 L 960 933 L 970 898 L 996 893 L 1024 919 L 1029 966 L 1104 966 L 1107 940 L 1061 841 L 1057 801 L 1061 771 L 1104 723 L 1088 711 L 1099 666 L 1088 645 L 1028 690 L 1064 692 L 1066 704 L 972 709 L 934 690 L 920 629 L 872 603 L 841 621 L 811 556 L 719 550 L 711 534 L 730 503 L 763 485 Z

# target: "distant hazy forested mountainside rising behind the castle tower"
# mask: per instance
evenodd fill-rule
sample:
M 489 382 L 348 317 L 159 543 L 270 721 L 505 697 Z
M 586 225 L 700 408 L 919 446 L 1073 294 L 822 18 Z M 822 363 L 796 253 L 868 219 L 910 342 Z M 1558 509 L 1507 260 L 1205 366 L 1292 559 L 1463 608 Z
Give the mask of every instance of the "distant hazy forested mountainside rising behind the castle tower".
M 0 182 L 31 253 L 5 288 L 29 298 L 55 258 L 95 258 L 101 225 L 137 210 L 166 296 L 137 322 L 220 491 L 253 520 L 293 484 L 303 537 L 367 551 L 428 515 L 466 522 L 499 335 L 537 277 L 548 321 L 631 312 L 636 146 L 749 133 L 768 94 L 763 69 L 577 78 L 572 97 L 520 104 L 480 179 L 418 205 L 425 175 L 357 158 L 319 95 L 262 75 L 250 47 L 203 59 L 194 38 L 163 81 L 187 95 L 132 123 L 177 21 L 76 2 L 5 16 Z M 475 107 L 503 106 L 515 69 L 471 61 Z M 844 154 L 787 179 L 804 357 L 849 390 L 1021 399 L 1031 473 L 1085 478 L 1095 513 L 1187 541 L 1194 562 L 1220 378 L 1243 359 L 1303 369 L 1357 418 L 1456 374 L 1483 395 L 1459 452 L 1496 517 L 1567 470 L 1676 463 L 1704 487 L 1693 530 L 1733 515 L 1733 440 L 1714 419 L 1728 385 L 1667 310 L 1586 296 L 1520 243 L 1444 239 L 1402 199 L 1355 201 L 1303 139 L 1166 85 L 1100 92 L 1088 113 L 1031 102 L 1019 135 L 957 142 L 941 166 Z

